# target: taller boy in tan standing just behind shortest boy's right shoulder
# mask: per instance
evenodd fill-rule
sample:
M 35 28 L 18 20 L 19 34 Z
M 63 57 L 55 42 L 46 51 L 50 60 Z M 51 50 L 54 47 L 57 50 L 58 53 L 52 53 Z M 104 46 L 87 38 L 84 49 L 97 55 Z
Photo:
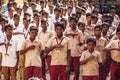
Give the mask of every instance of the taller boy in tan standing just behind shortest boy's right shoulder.
M 106 79 L 106 76 L 108 75 L 106 73 L 106 64 L 103 64 L 105 63 L 105 60 L 107 58 L 105 52 L 103 51 L 103 49 L 105 48 L 105 46 L 107 45 L 107 40 L 101 36 L 101 33 L 102 33 L 102 28 L 101 28 L 101 25 L 96 25 L 94 27 L 94 34 L 95 34 L 95 39 L 96 39 L 96 50 L 100 52 L 100 57 L 102 58 L 102 61 L 100 63 L 100 67 L 99 67 L 99 80 L 105 80 Z

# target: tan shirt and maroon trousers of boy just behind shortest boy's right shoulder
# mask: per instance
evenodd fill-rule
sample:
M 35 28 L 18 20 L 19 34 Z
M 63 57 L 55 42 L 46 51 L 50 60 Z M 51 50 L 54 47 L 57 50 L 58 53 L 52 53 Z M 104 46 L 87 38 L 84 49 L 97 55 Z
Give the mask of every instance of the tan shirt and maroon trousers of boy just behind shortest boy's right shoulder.
M 100 52 L 100 57 L 102 59 L 101 63 L 103 63 L 108 56 L 103 51 L 105 46 L 107 45 L 108 41 L 104 37 L 100 37 L 99 40 L 96 39 L 96 50 Z M 108 71 L 108 64 L 105 62 L 104 64 L 99 64 L 99 80 L 106 80 L 106 77 L 109 73 Z

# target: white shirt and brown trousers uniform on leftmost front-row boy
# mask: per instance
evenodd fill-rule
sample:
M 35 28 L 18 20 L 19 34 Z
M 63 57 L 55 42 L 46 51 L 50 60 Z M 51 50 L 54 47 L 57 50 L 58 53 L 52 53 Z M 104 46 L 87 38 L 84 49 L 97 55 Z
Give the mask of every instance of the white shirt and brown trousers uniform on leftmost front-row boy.
M 4 80 L 8 80 L 9 77 L 11 77 L 12 80 L 17 80 L 16 79 L 16 69 L 15 66 L 17 64 L 17 54 L 16 51 L 18 50 L 17 48 L 17 40 L 15 40 L 14 37 L 11 38 L 10 41 L 7 40 L 7 37 L 4 36 L 0 38 L 0 42 L 3 43 L 8 43 L 9 46 L 8 48 L 5 45 L 0 46 L 0 52 L 2 53 L 2 72 L 4 76 Z M 10 72 L 10 74 L 9 74 Z

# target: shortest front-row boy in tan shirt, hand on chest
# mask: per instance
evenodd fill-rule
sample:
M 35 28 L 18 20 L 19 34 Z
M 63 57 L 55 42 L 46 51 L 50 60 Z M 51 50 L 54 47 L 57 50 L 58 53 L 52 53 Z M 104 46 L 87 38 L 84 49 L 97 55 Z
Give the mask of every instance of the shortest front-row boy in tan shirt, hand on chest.
M 82 65 L 82 80 L 99 80 L 99 62 L 100 53 L 95 50 L 96 40 L 94 38 L 87 39 L 88 49 L 84 51 L 80 58 Z

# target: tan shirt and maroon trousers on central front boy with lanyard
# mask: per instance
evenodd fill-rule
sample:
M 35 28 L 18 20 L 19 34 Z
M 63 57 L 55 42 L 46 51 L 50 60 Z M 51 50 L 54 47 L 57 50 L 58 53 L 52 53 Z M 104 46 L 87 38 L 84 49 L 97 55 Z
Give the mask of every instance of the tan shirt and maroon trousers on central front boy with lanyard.
M 63 48 L 55 48 L 51 51 L 51 64 L 50 64 L 50 80 L 68 80 L 65 73 L 67 65 L 67 51 L 70 50 L 69 39 L 65 36 L 59 40 L 57 37 L 52 37 L 46 47 L 51 47 L 57 44 L 63 45 Z

